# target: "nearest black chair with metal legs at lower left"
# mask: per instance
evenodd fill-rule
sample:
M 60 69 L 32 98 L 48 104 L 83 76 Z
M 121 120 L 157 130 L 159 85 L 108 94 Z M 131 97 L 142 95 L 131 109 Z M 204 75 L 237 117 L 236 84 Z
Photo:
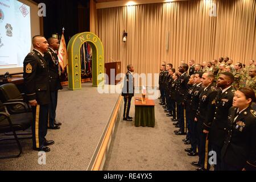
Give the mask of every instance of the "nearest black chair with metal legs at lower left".
M 32 123 L 32 113 L 20 113 L 20 114 L 13 114 L 10 115 L 6 112 L 5 104 L 2 104 L 0 101 L 0 134 L 1 133 L 13 133 L 14 137 L 12 138 L 0 138 L 0 142 L 3 140 L 16 140 L 16 143 L 19 148 L 18 155 L 8 155 L 8 156 L 0 156 L 0 159 L 7 159 L 7 158 L 18 158 L 20 154 L 22 154 L 22 146 L 20 145 L 19 139 L 17 137 L 16 131 L 24 131 L 27 130 Z M 28 139 L 31 137 L 25 137 L 22 139 Z M 1 147 L 2 148 L 2 147 Z

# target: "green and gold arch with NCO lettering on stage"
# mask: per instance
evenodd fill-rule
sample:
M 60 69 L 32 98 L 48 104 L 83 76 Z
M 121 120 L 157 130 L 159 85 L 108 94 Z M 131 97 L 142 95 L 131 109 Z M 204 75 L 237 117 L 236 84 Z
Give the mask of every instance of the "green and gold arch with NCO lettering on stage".
M 104 49 L 102 42 L 92 32 L 82 32 L 74 35 L 68 43 L 68 88 L 71 90 L 82 88 L 80 49 L 85 42 L 92 48 L 93 86 L 104 84 L 104 77 L 98 79 L 98 75 L 104 73 Z

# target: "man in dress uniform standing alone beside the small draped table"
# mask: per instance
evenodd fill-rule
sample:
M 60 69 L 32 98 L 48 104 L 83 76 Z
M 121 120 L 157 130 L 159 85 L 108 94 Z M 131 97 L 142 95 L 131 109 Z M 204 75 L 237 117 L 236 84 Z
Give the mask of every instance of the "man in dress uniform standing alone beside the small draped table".
M 125 106 L 123 108 L 123 120 L 132 121 L 132 117 L 129 116 L 131 98 L 134 96 L 134 78 L 133 78 L 134 68 L 133 65 L 127 65 L 127 73 L 123 81 L 122 96 L 125 101 Z

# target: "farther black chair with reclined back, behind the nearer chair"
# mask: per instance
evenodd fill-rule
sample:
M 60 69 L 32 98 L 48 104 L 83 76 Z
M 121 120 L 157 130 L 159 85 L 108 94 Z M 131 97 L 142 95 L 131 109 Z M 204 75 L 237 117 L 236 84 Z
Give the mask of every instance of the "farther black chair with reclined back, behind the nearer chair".
M 10 114 L 32 112 L 31 106 L 24 100 L 24 94 L 21 94 L 14 84 L 0 85 L 0 100 L 6 105 Z

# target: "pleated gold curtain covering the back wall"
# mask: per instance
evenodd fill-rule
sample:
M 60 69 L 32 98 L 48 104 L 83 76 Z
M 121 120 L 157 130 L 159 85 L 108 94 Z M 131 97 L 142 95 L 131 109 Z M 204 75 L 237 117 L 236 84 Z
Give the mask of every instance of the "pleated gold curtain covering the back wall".
M 159 73 L 160 63 L 196 63 L 229 56 L 256 60 L 256 1 L 181 1 L 97 9 L 96 34 L 105 62 Z M 122 32 L 128 33 L 122 42 Z M 169 35 L 169 36 L 168 36 Z

